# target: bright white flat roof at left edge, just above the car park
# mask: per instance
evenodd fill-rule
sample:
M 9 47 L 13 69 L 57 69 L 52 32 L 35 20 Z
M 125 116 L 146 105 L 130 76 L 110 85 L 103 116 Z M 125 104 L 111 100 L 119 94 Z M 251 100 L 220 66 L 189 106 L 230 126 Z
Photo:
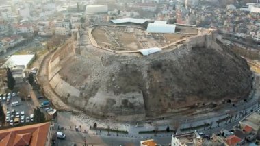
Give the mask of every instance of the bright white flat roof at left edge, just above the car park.
M 6 66 L 12 67 L 12 66 L 27 66 L 34 60 L 35 55 L 29 54 L 29 55 L 13 55 L 11 56 L 1 68 L 5 68 Z

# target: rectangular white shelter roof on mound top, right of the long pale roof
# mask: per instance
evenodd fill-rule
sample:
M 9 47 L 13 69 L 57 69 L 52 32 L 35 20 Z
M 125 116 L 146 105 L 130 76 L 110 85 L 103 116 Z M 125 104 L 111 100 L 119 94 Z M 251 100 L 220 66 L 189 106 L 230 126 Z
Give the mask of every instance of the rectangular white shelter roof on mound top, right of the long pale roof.
M 176 25 L 149 23 L 146 32 L 174 34 Z

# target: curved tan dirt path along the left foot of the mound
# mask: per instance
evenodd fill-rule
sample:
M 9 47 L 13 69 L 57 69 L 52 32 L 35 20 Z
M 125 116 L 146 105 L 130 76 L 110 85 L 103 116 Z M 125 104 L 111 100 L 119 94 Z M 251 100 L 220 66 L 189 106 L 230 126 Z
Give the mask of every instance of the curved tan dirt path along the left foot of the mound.
M 53 53 L 47 53 L 45 58 L 43 58 L 42 64 L 38 69 L 38 82 L 42 86 L 45 97 L 47 97 L 51 101 L 51 103 L 53 104 L 53 106 L 55 106 L 55 108 L 57 108 L 57 110 L 70 111 L 72 110 L 72 108 L 64 104 L 64 102 L 60 99 L 60 97 L 55 93 L 55 91 L 53 90 L 53 88 L 51 88 L 51 85 L 49 84 L 48 66 L 52 54 Z

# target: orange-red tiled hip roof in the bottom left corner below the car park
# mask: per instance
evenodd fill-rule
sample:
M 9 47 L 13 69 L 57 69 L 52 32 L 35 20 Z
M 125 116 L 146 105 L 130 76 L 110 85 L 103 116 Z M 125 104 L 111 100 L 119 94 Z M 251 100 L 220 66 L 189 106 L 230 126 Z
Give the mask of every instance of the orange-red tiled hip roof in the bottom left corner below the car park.
M 50 123 L 39 123 L 0 130 L 1 146 L 44 146 L 47 141 Z

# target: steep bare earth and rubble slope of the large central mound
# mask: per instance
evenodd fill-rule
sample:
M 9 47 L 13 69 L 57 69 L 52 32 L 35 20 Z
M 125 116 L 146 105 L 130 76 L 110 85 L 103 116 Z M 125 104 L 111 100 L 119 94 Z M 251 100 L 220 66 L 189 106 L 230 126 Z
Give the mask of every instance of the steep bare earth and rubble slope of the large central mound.
M 81 49 L 60 59 L 60 75 L 81 90 L 70 102 L 93 116 L 142 114 L 155 117 L 248 97 L 252 73 L 226 49 L 181 47 L 150 56 Z M 183 112 L 184 114 L 184 112 Z

